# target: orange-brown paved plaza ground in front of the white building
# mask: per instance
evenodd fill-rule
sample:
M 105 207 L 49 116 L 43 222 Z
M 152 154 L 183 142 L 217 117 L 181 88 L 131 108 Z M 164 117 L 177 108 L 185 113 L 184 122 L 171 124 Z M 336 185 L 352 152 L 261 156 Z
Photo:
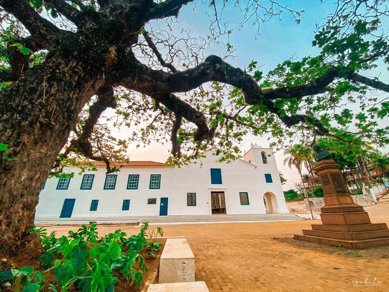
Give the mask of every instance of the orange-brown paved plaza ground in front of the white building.
M 373 223 L 389 225 L 389 202 L 365 208 Z M 196 259 L 196 280 L 212 291 L 389 291 L 389 247 L 347 250 L 292 239 L 320 220 L 162 225 L 165 236 L 185 236 Z M 99 234 L 137 225 L 105 225 Z M 53 226 L 58 235 L 78 227 Z M 352 281 L 380 283 L 359 286 Z

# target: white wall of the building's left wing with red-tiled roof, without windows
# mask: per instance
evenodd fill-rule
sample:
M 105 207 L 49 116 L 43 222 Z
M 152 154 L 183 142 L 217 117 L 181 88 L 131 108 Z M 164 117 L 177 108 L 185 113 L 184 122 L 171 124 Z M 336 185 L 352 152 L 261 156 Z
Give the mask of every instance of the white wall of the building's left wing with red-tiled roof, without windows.
M 44 189 L 39 195 L 36 216 L 60 216 L 65 199 L 76 199 L 72 218 L 83 216 L 123 216 L 123 215 L 159 215 L 159 198 L 170 194 L 171 166 L 124 166 L 117 172 L 115 189 L 105 189 L 105 167 L 98 167 L 91 190 L 81 190 L 82 175 L 78 168 L 68 167 L 73 171 L 74 178 L 70 179 L 67 190 L 56 190 L 58 178 L 47 179 Z M 86 172 L 86 174 L 90 174 Z M 138 174 L 138 188 L 127 189 L 128 175 Z M 161 174 L 160 188 L 150 189 L 150 175 Z M 156 198 L 156 204 L 147 204 L 147 199 Z M 96 211 L 90 211 L 92 200 L 99 200 Z M 130 200 L 130 208 L 123 211 L 123 200 Z

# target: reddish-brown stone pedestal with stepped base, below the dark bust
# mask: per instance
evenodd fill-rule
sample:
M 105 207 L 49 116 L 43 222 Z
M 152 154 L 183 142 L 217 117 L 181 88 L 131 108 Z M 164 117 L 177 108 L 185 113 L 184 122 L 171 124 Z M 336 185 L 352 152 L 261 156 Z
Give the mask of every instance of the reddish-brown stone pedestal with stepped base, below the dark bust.
M 389 245 L 389 230 L 385 223 L 371 223 L 363 207 L 354 204 L 339 170 L 333 160 L 316 163 L 324 193 L 321 208 L 322 224 L 312 224 L 312 230 L 303 230 L 303 235 L 294 238 L 314 243 L 340 245 L 361 249 Z

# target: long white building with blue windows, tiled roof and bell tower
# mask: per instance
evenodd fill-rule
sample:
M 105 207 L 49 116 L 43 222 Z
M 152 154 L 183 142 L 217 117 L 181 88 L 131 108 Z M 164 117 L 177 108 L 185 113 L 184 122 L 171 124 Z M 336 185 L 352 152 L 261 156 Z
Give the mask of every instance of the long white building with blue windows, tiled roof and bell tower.
M 131 161 L 105 174 L 105 164 L 97 162 L 98 171 L 78 175 L 79 169 L 68 167 L 74 178 L 47 179 L 35 220 L 115 223 L 131 216 L 289 213 L 271 148 L 251 145 L 244 159 L 231 163 L 215 162 L 211 151 L 202 165 L 199 160 L 181 168 Z

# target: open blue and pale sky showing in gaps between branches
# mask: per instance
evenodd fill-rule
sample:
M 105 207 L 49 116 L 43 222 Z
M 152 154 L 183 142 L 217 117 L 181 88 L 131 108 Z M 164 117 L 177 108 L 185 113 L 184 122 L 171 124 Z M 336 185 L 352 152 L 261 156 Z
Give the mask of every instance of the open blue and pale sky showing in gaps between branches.
M 216 1 L 216 3 L 218 2 Z M 266 0 L 263 0 L 262 3 L 268 5 L 270 1 L 266 2 Z M 240 29 L 239 24 L 243 19 L 243 14 L 237 7 L 233 7 L 231 2 L 227 2 L 227 7 L 222 14 L 222 21 L 230 22 L 229 28 L 233 28 L 234 30 L 230 35 L 230 44 L 238 47 L 238 49 L 235 51 L 237 58 L 227 59 L 226 62 L 231 63 L 233 66 L 244 68 L 254 59 L 258 62 L 258 65 L 262 66 L 260 70 L 265 75 L 268 70 L 273 69 L 278 63 L 283 62 L 291 56 L 300 59 L 303 56 L 315 55 L 319 52 L 317 47 L 311 46 L 312 40 L 314 39 L 315 24 L 325 21 L 328 14 L 335 10 L 333 1 L 327 0 L 321 3 L 319 0 L 281 0 L 281 3 L 284 5 L 291 4 L 291 8 L 294 10 L 301 11 L 304 9 L 305 12 L 300 17 L 301 23 L 295 23 L 291 14 L 285 11 L 282 13 L 282 21 L 279 21 L 278 18 L 273 18 L 270 21 L 261 23 L 260 36 L 256 37 L 257 27 L 252 26 L 250 21 Z M 217 7 L 220 12 L 221 7 Z M 195 10 L 193 11 L 194 8 Z M 177 19 L 179 23 L 173 24 L 173 30 L 191 28 L 194 33 L 198 33 L 199 35 L 209 35 L 210 22 L 207 19 L 206 12 L 212 16 L 214 13 L 213 7 L 209 7 L 208 4 L 203 4 L 201 1 L 196 4 L 186 5 L 180 11 Z M 158 24 L 161 25 L 161 22 Z M 223 55 L 224 51 L 225 48 L 223 46 L 213 46 L 205 55 Z M 386 66 L 383 68 L 386 68 Z M 384 75 L 382 81 L 387 83 L 387 73 L 383 72 L 383 74 L 386 75 Z M 128 135 L 132 131 L 132 129 L 121 129 L 120 133 L 121 135 Z M 272 141 L 272 138 L 266 135 L 259 137 L 248 134 L 244 138 L 241 150 L 248 150 L 251 142 L 266 148 Z M 140 148 L 136 148 L 135 144 L 130 145 L 128 155 L 131 160 L 164 162 L 169 155 L 169 151 L 170 144 L 163 145 L 153 142 L 146 147 L 141 146 Z M 275 153 L 275 158 L 279 171 L 287 179 L 286 185 L 283 186 L 284 190 L 293 188 L 294 182 L 300 182 L 300 177 L 296 169 L 289 169 L 283 165 L 284 155 L 282 152 Z

